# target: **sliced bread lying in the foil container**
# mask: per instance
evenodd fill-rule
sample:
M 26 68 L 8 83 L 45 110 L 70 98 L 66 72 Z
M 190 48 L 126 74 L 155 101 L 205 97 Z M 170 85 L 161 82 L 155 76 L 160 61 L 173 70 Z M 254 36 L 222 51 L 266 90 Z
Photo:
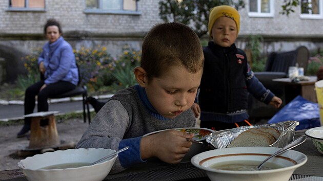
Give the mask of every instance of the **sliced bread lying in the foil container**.
M 238 135 L 229 145 L 230 147 L 269 146 L 280 136 L 280 131 L 274 128 L 250 128 Z

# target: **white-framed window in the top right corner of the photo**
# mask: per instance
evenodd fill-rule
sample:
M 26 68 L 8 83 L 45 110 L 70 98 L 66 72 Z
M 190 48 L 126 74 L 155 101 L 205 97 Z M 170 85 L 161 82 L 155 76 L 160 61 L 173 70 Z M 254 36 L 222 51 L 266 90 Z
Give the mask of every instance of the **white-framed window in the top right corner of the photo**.
M 300 8 L 301 18 L 323 18 L 322 0 L 301 0 Z

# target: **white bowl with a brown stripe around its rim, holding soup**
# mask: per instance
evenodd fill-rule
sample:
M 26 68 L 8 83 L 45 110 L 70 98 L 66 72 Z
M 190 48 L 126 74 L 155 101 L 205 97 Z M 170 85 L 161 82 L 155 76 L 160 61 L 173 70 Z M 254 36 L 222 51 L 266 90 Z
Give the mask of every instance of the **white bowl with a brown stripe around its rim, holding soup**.
M 247 163 L 257 162 L 260 164 L 270 154 L 280 148 L 275 147 L 236 147 L 210 150 L 199 153 L 192 157 L 192 164 L 204 170 L 210 180 L 230 180 L 230 181 L 258 181 L 258 180 L 275 180 L 287 181 L 296 168 L 307 162 L 307 156 L 301 152 L 288 150 L 278 156 L 270 159 L 270 164 L 277 164 L 281 168 L 271 170 L 254 170 L 254 171 L 231 171 L 210 168 L 214 164 L 225 162 Z M 264 166 L 268 165 L 265 163 Z

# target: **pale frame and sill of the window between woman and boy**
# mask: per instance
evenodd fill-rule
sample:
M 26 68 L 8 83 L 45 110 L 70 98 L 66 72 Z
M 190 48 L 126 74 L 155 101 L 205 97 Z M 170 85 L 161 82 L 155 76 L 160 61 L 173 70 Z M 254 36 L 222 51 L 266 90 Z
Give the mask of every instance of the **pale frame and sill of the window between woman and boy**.
M 123 3 L 124 3 L 124 0 L 119 0 L 120 1 L 120 4 L 121 4 L 121 7 L 123 8 Z M 87 8 L 86 7 L 86 0 L 84 1 L 84 13 L 86 14 L 120 14 L 120 15 L 141 15 L 142 12 L 138 11 L 138 2 L 137 0 L 134 0 L 136 1 L 136 10 L 135 11 L 132 11 L 132 10 L 122 10 L 122 9 L 119 9 L 119 10 L 113 10 L 113 9 L 102 9 L 102 5 L 103 5 L 103 2 L 102 0 L 98 0 L 98 8 L 97 9 L 90 9 L 90 8 Z

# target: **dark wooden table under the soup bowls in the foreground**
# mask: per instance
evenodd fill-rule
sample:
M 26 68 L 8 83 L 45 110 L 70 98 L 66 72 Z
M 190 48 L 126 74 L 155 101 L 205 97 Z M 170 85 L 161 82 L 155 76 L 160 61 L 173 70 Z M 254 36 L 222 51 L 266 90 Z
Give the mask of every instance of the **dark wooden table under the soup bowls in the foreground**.
M 305 130 L 295 131 L 295 138 L 304 135 Z M 297 168 L 290 180 L 323 180 L 323 155 L 320 154 L 313 145 L 310 138 L 306 142 L 293 148 L 308 156 L 305 165 Z M 117 174 L 109 174 L 104 180 L 120 181 L 120 180 L 200 180 L 209 181 L 206 173 L 194 167 L 191 163 L 170 165 L 166 163 L 143 163 L 127 169 Z M 0 171 L 0 180 L 27 180 L 19 169 Z

